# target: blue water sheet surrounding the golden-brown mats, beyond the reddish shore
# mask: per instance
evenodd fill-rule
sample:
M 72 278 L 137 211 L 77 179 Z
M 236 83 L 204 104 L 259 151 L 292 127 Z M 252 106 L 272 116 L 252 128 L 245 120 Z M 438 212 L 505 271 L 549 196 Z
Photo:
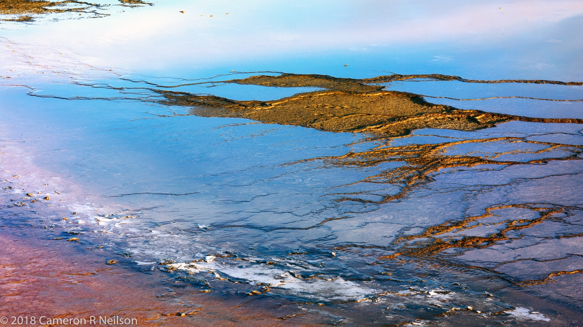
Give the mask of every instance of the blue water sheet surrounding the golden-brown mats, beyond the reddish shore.
M 2 187 L 15 186 L 6 189 L 2 201 L 10 212 L 45 217 L 30 228 L 51 223 L 47 233 L 54 237 L 83 233 L 84 243 L 103 246 L 135 269 L 164 270 L 167 265 L 159 262 L 168 259 L 175 264 L 169 273 L 190 272 L 217 290 L 237 282 L 264 292 L 261 286 L 271 285 L 265 294 L 323 303 L 321 312 L 339 305 L 357 312 L 336 322 L 429 324 L 444 320 L 438 318 L 443 312 L 456 312 L 455 325 L 473 321 L 478 310 L 487 318 L 476 325 L 497 324 L 498 317 L 519 325 L 566 323 L 567 318 L 545 310 L 548 303 L 556 308 L 565 301 L 581 312 L 580 274 L 522 288 L 516 283 L 581 268 L 580 237 L 563 237 L 581 233 L 579 159 L 447 168 L 398 201 L 337 201 L 346 193 L 374 201 L 398 193 L 402 185 L 363 179 L 407 163 L 359 167 L 304 161 L 382 144 L 362 134 L 187 115 L 188 108 L 160 105 L 151 88 L 277 72 L 581 81 L 583 52 L 576 31 L 583 16 L 570 5 L 509 3 L 502 5 L 508 12 L 500 14 L 498 5 L 487 2 L 447 2 L 437 8 L 407 2 L 177 1 L 126 12 L 108 9 L 112 15 L 101 19 L 2 23 L 0 69 L 2 77 L 11 77 L 0 81 L 0 138 L 6 147 Z M 486 23 L 463 24 L 476 12 Z M 559 13 L 565 17 L 557 18 Z M 124 26 L 133 29 L 116 30 Z M 431 98 L 576 100 L 583 98 L 581 86 L 400 81 L 387 89 L 460 109 L 583 118 L 583 102 Z M 171 90 L 268 100 L 314 88 L 219 83 Z M 518 162 L 581 158 L 581 148 L 573 146 L 583 144 L 582 129 L 574 123 L 507 122 L 477 131 L 416 130 L 384 145 L 474 140 L 441 153 Z M 494 140 L 500 137 L 517 140 Z M 51 194 L 46 202 L 55 205 L 8 207 L 15 202 L 10 198 L 29 191 Z M 520 230 L 512 234 L 515 240 L 455 257 L 444 251 L 423 260 L 378 259 L 399 250 L 398 237 L 515 204 L 561 207 L 568 219 Z M 483 229 L 454 230 L 443 237 L 486 236 L 505 226 L 504 219 L 540 211 L 493 210 L 499 213 L 494 218 L 501 218 L 477 219 Z M 61 220 L 65 215 L 68 221 Z M 123 252 L 132 257 L 115 254 Z M 475 268 L 459 269 L 467 266 Z M 538 297 L 526 300 L 527 293 Z M 461 310 L 468 306 L 473 309 Z M 353 318 L 362 315 L 372 318 Z

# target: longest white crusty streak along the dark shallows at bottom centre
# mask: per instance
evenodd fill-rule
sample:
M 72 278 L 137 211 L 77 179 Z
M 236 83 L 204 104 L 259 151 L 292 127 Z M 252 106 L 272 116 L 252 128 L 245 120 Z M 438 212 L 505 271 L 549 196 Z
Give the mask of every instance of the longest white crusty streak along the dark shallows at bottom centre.
M 171 268 L 188 272 L 221 272 L 232 278 L 247 280 L 251 284 L 266 284 L 271 287 L 292 290 L 303 296 L 313 298 L 325 298 L 328 300 L 361 300 L 367 295 L 380 293 L 380 290 L 361 287 L 359 284 L 344 280 L 315 279 L 308 282 L 305 279 L 296 278 L 289 272 L 267 266 L 238 267 L 220 264 L 218 262 L 181 262 L 168 265 Z

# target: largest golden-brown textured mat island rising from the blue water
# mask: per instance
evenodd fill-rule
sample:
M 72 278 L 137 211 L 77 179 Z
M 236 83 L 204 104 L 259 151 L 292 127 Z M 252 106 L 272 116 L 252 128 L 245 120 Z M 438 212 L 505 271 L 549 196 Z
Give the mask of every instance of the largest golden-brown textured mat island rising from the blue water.
M 393 78 L 405 79 L 401 75 Z M 408 79 L 413 78 L 417 78 L 417 75 L 408 76 Z M 452 106 L 431 104 L 425 101 L 422 95 L 384 91 L 382 86 L 366 84 L 387 80 L 390 80 L 387 76 L 354 80 L 313 74 L 281 74 L 221 82 L 268 87 L 326 88 L 322 91 L 300 93 L 273 101 L 236 101 L 215 95 L 197 95 L 180 91 L 157 90 L 157 92 L 165 98 L 162 101 L 163 104 L 189 106 L 192 108 L 192 115 L 247 118 L 263 123 L 303 126 L 324 131 L 371 133 L 377 137 L 405 136 L 412 130 L 426 128 L 479 130 L 510 120 L 583 123 L 583 119 L 574 118 L 531 118 L 478 110 L 461 110 Z M 494 83 L 495 81 L 480 82 Z M 547 82 L 563 83 L 556 81 L 533 81 L 532 83 Z M 526 81 L 520 83 L 526 83 Z

